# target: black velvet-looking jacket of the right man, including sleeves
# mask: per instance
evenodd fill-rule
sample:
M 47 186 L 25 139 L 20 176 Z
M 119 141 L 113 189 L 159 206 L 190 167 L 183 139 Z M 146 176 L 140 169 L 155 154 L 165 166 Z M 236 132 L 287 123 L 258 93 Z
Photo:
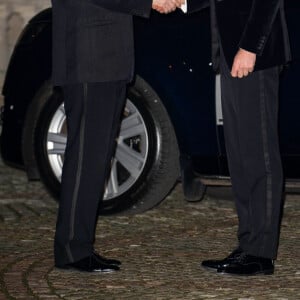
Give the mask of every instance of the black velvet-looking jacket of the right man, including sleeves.
M 218 68 L 220 42 L 229 68 L 243 48 L 257 54 L 255 70 L 291 60 L 284 0 L 187 0 L 188 11 L 211 7 L 212 50 Z

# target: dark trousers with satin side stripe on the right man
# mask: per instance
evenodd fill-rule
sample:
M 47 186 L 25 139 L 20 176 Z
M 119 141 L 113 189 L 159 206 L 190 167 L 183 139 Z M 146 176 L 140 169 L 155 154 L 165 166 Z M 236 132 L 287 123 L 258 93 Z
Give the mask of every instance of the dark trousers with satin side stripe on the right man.
M 272 259 L 278 248 L 283 181 L 278 84 L 279 67 L 233 78 L 221 55 L 225 144 L 239 245 L 248 254 Z

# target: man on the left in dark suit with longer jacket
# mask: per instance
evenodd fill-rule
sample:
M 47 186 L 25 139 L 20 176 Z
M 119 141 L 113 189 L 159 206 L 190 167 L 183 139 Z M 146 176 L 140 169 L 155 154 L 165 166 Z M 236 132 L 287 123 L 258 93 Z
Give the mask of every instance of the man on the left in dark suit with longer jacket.
M 58 268 L 119 270 L 94 251 L 99 200 L 110 173 L 126 84 L 134 69 L 132 15 L 168 13 L 181 0 L 52 0 L 53 83 L 68 139 L 54 254 Z

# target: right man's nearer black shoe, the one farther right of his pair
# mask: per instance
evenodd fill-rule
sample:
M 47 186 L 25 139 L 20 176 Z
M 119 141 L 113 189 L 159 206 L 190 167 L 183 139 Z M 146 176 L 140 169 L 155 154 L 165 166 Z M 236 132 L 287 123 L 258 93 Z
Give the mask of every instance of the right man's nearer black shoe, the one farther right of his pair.
M 273 260 L 242 253 L 239 258 L 227 266 L 218 268 L 218 273 L 232 275 L 271 275 L 274 273 Z

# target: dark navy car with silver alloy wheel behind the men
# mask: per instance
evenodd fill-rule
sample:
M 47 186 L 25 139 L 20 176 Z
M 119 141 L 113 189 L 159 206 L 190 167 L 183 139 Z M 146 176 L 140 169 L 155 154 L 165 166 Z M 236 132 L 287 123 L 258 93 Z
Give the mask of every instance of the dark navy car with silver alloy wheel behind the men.
M 299 1 L 286 0 L 286 13 L 293 62 L 282 73 L 279 131 L 285 175 L 295 182 L 300 178 Z M 209 25 L 208 10 L 135 18 L 136 80 L 128 88 L 104 213 L 145 211 L 164 199 L 180 175 L 189 200 L 201 199 L 203 179 L 228 178 Z M 3 88 L 1 153 L 58 196 L 67 132 L 62 93 L 50 81 L 51 34 L 47 9 L 27 24 L 15 46 Z

